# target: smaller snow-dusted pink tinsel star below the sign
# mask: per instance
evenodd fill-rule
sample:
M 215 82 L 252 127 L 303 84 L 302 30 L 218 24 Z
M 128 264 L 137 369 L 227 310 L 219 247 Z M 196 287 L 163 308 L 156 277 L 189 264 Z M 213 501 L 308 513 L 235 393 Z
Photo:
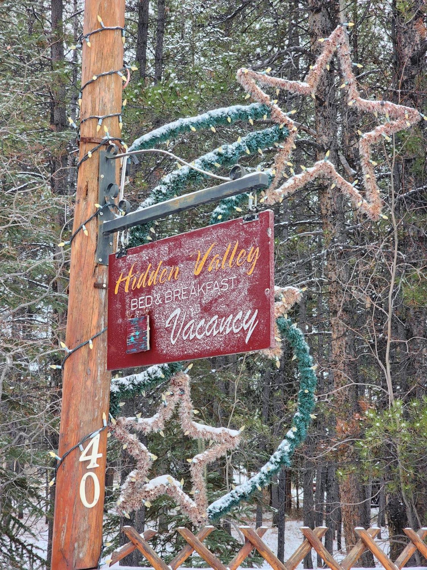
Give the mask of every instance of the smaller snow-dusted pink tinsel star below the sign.
M 188 369 L 187 369 L 188 370 Z M 183 480 L 176 481 L 171 475 L 161 475 L 147 479 L 153 461 L 157 456 L 143 445 L 136 435 L 128 430 L 141 431 L 143 434 L 151 432 L 163 435 L 166 421 L 172 417 L 176 405 L 179 405 L 179 421 L 184 435 L 192 439 L 205 439 L 210 446 L 205 451 L 187 459 L 190 463 L 192 499 L 183 491 Z M 129 516 L 129 511 L 140 508 L 142 504 L 151 506 L 151 501 L 159 495 L 171 496 L 176 504 L 187 514 L 188 518 L 197 526 L 206 521 L 207 494 L 204 481 L 204 469 L 207 465 L 224 455 L 227 451 L 235 449 L 241 439 L 240 430 L 227 427 L 211 427 L 195 422 L 195 410 L 190 398 L 190 377 L 186 372 L 178 372 L 171 378 L 169 388 L 162 394 L 162 404 L 157 413 L 151 418 L 137 417 L 117 418 L 113 425 L 113 435 L 123 444 L 130 455 L 137 461 L 137 467 L 126 478 L 121 487 L 121 495 L 117 502 L 118 511 Z M 214 445 L 212 445 L 214 444 Z

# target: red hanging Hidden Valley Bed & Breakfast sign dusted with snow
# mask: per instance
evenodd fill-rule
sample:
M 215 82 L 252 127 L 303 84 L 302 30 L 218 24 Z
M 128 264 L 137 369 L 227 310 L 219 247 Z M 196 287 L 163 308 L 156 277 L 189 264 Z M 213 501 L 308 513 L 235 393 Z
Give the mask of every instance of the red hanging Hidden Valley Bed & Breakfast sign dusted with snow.
M 273 306 L 271 210 L 110 255 L 107 368 L 269 348 Z

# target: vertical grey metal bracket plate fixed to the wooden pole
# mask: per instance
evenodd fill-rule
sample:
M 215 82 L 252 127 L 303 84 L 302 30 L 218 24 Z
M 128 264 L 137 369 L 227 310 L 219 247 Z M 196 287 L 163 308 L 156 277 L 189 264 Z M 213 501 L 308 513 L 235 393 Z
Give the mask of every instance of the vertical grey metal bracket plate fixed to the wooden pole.
M 114 210 L 106 204 L 113 202 L 114 196 L 117 196 L 118 186 L 116 184 L 116 160 L 109 160 L 111 156 L 106 150 L 100 150 L 99 153 L 99 191 L 98 203 L 102 206 L 102 211 L 98 215 L 98 243 L 96 247 L 96 263 L 108 265 L 108 256 L 113 253 L 113 235 L 105 235 L 102 233 L 102 224 L 106 221 L 116 218 Z

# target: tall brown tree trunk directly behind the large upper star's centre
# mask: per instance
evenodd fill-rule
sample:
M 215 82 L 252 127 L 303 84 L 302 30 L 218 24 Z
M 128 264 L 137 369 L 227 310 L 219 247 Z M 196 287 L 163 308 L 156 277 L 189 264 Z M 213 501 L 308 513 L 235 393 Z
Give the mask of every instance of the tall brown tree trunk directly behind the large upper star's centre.
M 336 27 L 339 19 L 340 6 L 338 3 L 319 6 L 314 0 L 310 0 L 309 15 L 311 51 L 318 55 L 322 50 L 319 38 L 329 36 Z M 338 164 L 338 132 L 337 132 L 338 102 L 336 100 L 334 74 L 324 74 L 319 83 L 315 99 L 315 120 L 317 131 L 317 143 L 321 150 L 317 151 L 317 159 L 325 156 L 326 150 L 330 150 L 329 160 Z M 334 241 L 345 241 L 343 197 L 332 193 L 330 184 L 321 185 L 319 203 L 323 221 L 326 254 L 326 276 L 329 290 L 329 311 L 331 327 L 331 355 L 329 369 L 329 385 L 334 386 L 336 392 L 335 409 L 337 411 L 337 434 L 343 422 L 351 422 L 356 398 L 354 388 L 343 388 L 348 384 L 351 377 L 348 370 L 348 321 L 346 292 L 343 292 L 342 284 L 348 282 L 346 276 L 346 264 L 341 260 L 341 254 L 335 251 Z M 345 261 L 345 260 L 344 260 Z M 344 299 L 343 299 L 344 296 Z M 333 384 L 332 384 L 333 381 Z M 331 426 L 333 428 L 333 426 Z M 330 429 L 330 431 L 333 431 Z M 347 434 L 348 435 L 348 434 Z M 340 483 L 340 502 L 346 538 L 347 551 L 356 543 L 354 527 L 360 525 L 360 513 L 357 508 L 362 502 L 361 487 L 358 477 L 352 470 L 352 464 L 356 459 L 354 447 L 350 444 L 342 451 L 344 474 Z M 330 539 L 329 539 L 330 541 Z M 373 561 L 372 555 L 371 559 Z M 364 563 L 364 555 L 359 559 L 360 565 Z

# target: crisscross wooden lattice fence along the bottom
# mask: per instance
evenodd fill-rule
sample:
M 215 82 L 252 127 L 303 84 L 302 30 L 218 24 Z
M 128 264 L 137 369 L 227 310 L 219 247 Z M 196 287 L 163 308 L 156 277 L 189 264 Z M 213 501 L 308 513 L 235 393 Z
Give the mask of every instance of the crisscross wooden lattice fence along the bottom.
M 274 570 L 294 570 L 312 548 L 318 553 L 325 562 L 325 565 L 331 570 L 350 570 L 366 550 L 370 550 L 372 552 L 373 556 L 379 561 L 385 570 L 400 570 L 416 550 L 418 550 L 421 555 L 427 559 L 427 545 L 424 543 L 424 539 L 427 536 L 427 528 L 420 528 L 417 532 L 412 530 L 412 528 L 404 529 L 405 534 L 409 538 L 409 543 L 405 546 L 400 556 L 398 556 L 394 562 L 389 559 L 375 541 L 375 537 L 380 532 L 379 528 L 372 527 L 368 528 L 368 530 L 365 530 L 364 528 L 355 528 L 355 532 L 359 536 L 359 540 L 347 556 L 338 562 L 326 550 L 321 541 L 322 537 L 328 530 L 327 527 L 316 527 L 314 530 L 311 530 L 309 527 L 301 527 L 301 532 L 305 536 L 305 540 L 303 540 L 302 544 L 299 545 L 293 555 L 291 555 L 285 563 L 282 563 L 262 540 L 262 536 L 267 530 L 266 527 L 257 528 L 256 531 L 248 526 L 241 526 L 239 528 L 245 537 L 245 544 L 240 548 L 239 552 L 237 552 L 236 556 L 227 564 L 227 566 L 225 566 L 203 544 L 203 540 L 211 534 L 215 527 L 203 527 L 196 535 L 188 530 L 188 528 L 178 528 L 179 534 L 186 540 L 187 544 L 174 557 L 174 559 L 170 561 L 169 564 L 166 564 L 148 543 L 148 541 L 157 534 L 156 531 L 146 530 L 142 534 L 139 534 L 133 527 L 125 526 L 122 528 L 122 531 L 129 538 L 130 542 L 113 552 L 110 566 L 118 560 L 123 559 L 136 548 L 142 552 L 155 570 L 176 570 L 176 568 L 179 568 L 179 566 L 183 564 L 193 552 L 197 552 L 198 555 L 215 570 L 237 570 L 253 549 L 256 549 L 267 563 L 274 568 Z

